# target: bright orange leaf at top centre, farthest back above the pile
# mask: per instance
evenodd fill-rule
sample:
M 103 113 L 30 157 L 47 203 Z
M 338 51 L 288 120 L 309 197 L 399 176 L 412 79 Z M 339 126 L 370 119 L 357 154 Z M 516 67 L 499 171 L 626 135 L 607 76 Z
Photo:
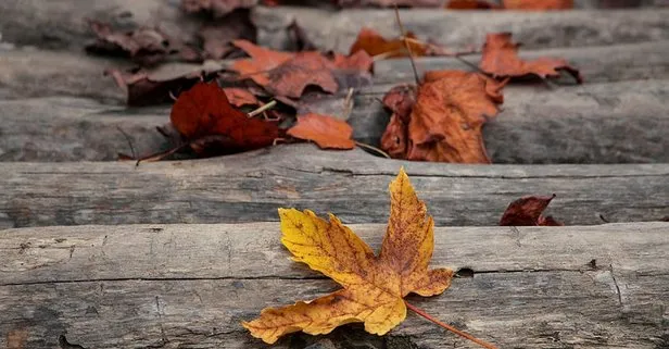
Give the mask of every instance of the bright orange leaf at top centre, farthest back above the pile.
M 416 39 L 416 36 L 413 33 L 407 33 L 406 37 Z M 409 41 L 408 46 L 412 49 L 413 57 L 426 55 L 428 52 L 426 45 Z M 388 58 L 408 57 L 404 41 L 401 38 L 387 40 L 376 30 L 367 27 L 362 28 L 357 34 L 357 39 L 351 46 L 350 52 L 353 54 L 361 50 L 373 57 L 378 54 L 386 54 Z

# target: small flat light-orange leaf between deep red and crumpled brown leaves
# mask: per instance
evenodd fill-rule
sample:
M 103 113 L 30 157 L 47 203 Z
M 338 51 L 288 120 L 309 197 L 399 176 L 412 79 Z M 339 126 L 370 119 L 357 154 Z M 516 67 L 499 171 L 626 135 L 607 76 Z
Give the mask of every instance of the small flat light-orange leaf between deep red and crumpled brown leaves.
M 298 124 L 288 129 L 288 135 L 313 140 L 323 149 L 353 149 L 353 128 L 345 121 L 332 116 L 308 113 L 298 116 Z

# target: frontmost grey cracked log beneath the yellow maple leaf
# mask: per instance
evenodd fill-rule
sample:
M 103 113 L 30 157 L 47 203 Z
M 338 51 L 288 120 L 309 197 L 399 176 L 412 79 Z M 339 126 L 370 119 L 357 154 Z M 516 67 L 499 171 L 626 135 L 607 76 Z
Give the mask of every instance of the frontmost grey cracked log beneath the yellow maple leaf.
M 375 249 L 384 230 L 352 228 Z M 0 342 L 263 348 L 240 321 L 337 288 L 291 262 L 279 236 L 277 223 L 2 232 Z M 432 265 L 467 267 L 474 277 L 409 301 L 501 348 L 669 345 L 667 223 L 437 228 L 436 242 Z M 475 348 L 414 314 L 382 338 L 345 326 L 277 347 L 308 345 Z

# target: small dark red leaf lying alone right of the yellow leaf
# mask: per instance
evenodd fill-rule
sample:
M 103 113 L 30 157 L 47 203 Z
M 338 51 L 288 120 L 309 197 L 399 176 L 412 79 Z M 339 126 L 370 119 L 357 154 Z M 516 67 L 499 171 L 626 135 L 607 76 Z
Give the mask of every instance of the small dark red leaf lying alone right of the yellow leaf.
M 560 226 L 564 225 L 555 221 L 552 216 L 543 216 L 543 211 L 548 207 L 551 200 L 555 198 L 555 195 L 551 197 L 542 196 L 527 196 L 522 197 L 508 204 L 506 211 L 500 220 L 500 225 L 508 226 Z

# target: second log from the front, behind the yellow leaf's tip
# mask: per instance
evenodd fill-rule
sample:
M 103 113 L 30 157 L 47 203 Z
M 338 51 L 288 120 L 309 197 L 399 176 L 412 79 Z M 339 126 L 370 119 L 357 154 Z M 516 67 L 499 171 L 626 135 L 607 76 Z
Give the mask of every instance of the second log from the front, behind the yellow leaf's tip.
M 669 216 L 668 164 L 456 165 L 292 145 L 139 167 L 4 163 L 0 227 L 275 221 L 279 207 L 378 223 L 387 220 L 388 183 L 401 165 L 439 225 L 495 225 L 510 201 L 552 192 L 548 214 L 567 224 Z

